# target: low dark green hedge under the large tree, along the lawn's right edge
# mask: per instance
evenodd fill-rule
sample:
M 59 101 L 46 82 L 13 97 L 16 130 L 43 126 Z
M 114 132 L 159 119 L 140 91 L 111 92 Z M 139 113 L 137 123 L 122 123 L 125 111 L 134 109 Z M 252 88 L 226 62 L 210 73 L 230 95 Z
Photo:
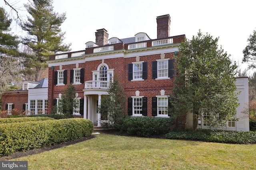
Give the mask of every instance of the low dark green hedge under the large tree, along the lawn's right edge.
M 193 141 L 207 141 L 218 143 L 234 144 L 255 144 L 256 132 L 236 132 L 224 130 L 197 129 L 193 132 L 191 129 L 174 129 L 167 133 L 167 139 L 184 139 Z

